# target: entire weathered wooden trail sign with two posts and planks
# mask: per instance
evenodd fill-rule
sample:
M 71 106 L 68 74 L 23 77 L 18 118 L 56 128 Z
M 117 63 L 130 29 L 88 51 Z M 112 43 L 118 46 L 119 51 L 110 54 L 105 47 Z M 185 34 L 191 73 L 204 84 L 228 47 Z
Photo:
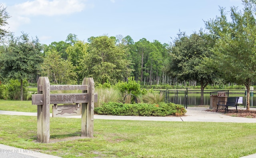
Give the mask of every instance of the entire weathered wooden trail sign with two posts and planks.
M 53 117 L 82 115 L 82 137 L 93 137 L 94 94 L 93 78 L 84 78 L 82 85 L 50 85 L 48 77 L 39 77 L 37 93 L 32 95 L 32 105 L 37 105 L 37 142 L 50 142 L 50 104 Z M 50 91 L 82 90 L 82 93 L 50 94 Z M 59 105 L 70 104 L 76 105 Z

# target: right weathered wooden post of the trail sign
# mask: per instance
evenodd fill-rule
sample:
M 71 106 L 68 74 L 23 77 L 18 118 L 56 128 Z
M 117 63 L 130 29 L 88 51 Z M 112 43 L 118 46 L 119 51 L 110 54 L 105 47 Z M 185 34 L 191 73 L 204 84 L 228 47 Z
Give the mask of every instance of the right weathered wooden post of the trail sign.
M 93 137 L 94 127 L 94 81 L 93 78 L 84 78 L 82 85 L 88 85 L 88 103 L 82 103 L 82 134 L 81 136 Z

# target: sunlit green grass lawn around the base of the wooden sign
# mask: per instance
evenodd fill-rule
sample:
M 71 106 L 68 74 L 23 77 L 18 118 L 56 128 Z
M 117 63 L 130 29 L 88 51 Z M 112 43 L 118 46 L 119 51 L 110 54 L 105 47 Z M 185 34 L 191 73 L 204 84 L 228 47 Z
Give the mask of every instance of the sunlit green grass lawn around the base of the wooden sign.
M 12 105 L 15 111 L 36 111 L 26 104 L 31 101 L 0 100 L 0 110 Z M 64 158 L 239 158 L 256 153 L 255 123 L 95 119 L 94 138 L 80 134 L 81 119 L 50 118 L 51 143 L 37 143 L 37 117 L 0 115 L 0 144 Z

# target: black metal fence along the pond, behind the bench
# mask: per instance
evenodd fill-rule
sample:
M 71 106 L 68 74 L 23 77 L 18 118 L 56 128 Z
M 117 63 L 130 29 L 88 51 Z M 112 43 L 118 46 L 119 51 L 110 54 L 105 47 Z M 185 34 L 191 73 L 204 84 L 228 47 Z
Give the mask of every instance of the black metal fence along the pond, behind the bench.
M 201 94 L 201 90 L 184 89 L 184 90 L 159 90 L 159 92 L 166 94 L 166 103 L 175 103 L 184 105 L 184 107 L 210 107 L 210 96 L 217 95 L 218 92 L 224 92 L 228 97 L 239 97 L 239 107 L 246 108 L 246 90 L 204 90 Z M 250 107 L 256 107 L 256 93 L 250 91 Z

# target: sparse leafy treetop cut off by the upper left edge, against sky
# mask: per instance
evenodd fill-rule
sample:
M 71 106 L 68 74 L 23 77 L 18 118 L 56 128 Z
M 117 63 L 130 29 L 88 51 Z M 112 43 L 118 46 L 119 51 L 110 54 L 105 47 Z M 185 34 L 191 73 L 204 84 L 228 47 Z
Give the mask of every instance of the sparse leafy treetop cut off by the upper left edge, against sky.
M 2 28 L 8 24 L 8 18 L 10 18 L 10 16 L 6 11 L 6 8 L 0 4 L 0 41 L 6 36 L 6 34 L 8 34 L 8 31 Z

